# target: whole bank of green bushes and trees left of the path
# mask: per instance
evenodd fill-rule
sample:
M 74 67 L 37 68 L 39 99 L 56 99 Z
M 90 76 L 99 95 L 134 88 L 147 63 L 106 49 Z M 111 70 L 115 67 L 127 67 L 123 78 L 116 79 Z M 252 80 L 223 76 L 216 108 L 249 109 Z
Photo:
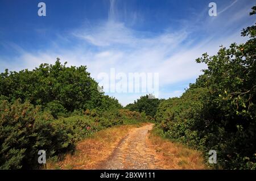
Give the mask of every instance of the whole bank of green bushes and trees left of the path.
M 38 150 L 58 157 L 101 129 L 147 120 L 97 88 L 86 66 L 67 67 L 59 59 L 1 73 L 0 169 L 35 169 Z

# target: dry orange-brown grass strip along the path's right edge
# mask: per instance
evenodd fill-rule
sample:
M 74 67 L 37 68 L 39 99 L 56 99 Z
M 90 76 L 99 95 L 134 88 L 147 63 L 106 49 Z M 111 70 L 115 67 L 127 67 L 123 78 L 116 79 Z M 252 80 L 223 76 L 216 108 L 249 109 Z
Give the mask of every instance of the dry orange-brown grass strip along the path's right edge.
M 164 169 L 207 169 L 202 154 L 186 146 L 171 142 L 151 132 L 149 143 Z

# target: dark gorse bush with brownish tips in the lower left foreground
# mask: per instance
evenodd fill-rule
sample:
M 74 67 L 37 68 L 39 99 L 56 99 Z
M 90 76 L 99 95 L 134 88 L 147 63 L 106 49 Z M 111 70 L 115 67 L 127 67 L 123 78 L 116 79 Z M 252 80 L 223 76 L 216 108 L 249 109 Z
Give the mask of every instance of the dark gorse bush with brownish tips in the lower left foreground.
M 39 110 L 20 100 L 0 102 L 0 169 L 35 167 L 38 150 L 47 150 L 51 156 L 71 146 L 64 128 L 56 128 L 51 114 Z

